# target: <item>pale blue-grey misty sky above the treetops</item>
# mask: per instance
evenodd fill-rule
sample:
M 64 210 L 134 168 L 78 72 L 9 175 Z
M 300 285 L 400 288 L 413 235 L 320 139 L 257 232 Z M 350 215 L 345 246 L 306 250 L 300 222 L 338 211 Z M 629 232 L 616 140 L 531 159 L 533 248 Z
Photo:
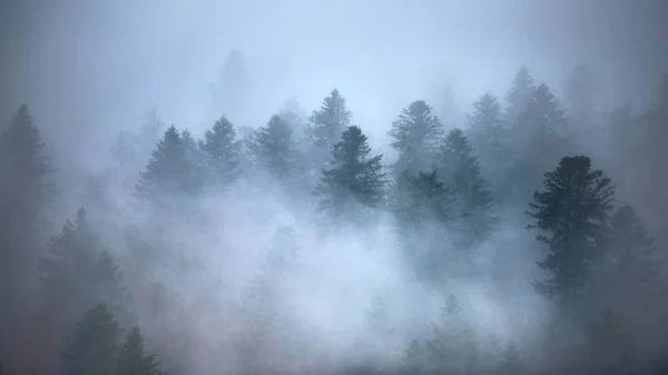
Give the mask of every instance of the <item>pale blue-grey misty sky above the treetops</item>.
M 47 136 L 68 139 L 56 151 L 75 152 L 82 164 L 95 162 L 86 156 L 119 129 L 139 126 L 154 107 L 167 122 L 203 131 L 207 88 L 233 48 L 244 52 L 256 82 L 256 122 L 292 95 L 311 111 L 336 87 L 372 144 L 401 108 L 445 86 L 461 110 L 487 90 L 503 96 L 520 65 L 559 92 L 564 75 L 587 62 L 608 106 L 644 106 L 668 67 L 661 38 L 668 7 L 660 0 L 3 0 L 1 7 L 2 120 L 27 102 Z

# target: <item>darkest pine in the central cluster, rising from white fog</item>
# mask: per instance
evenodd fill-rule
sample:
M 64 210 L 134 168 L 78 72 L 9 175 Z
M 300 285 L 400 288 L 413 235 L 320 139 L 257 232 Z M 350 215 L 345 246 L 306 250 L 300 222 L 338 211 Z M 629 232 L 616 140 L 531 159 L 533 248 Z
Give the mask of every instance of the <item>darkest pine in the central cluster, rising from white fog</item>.
M 371 157 L 366 140 L 358 127 L 348 127 L 334 145 L 330 168 L 322 169 L 314 194 L 320 197 L 318 210 L 330 218 L 365 226 L 371 219 L 370 211 L 383 201 L 383 156 Z

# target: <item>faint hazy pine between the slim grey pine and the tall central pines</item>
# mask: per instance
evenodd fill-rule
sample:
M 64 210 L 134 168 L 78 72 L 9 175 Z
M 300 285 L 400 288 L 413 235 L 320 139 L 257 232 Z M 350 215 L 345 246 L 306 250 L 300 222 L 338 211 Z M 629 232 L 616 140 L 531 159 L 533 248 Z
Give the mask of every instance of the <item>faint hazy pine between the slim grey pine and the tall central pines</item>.
M 278 115 L 253 135 L 248 145 L 257 161 L 275 178 L 286 180 L 294 177 L 297 150 L 293 130 Z

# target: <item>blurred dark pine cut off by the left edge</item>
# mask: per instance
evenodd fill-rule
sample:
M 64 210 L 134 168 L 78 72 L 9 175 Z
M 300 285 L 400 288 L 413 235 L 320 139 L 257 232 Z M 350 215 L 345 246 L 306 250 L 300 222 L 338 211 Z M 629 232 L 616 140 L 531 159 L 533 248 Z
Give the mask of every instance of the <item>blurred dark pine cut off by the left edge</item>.
M 28 308 L 35 258 L 42 248 L 46 210 L 56 191 L 53 170 L 28 107 L 20 106 L 0 134 L 0 352 L 14 355 L 20 319 Z M 11 368 L 12 363 L 6 366 Z

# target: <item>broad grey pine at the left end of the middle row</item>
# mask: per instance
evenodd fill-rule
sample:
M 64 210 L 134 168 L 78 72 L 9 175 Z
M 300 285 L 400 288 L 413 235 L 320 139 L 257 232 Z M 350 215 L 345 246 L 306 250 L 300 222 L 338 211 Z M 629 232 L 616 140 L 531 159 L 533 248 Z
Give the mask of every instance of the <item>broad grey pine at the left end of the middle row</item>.
M 139 197 L 160 203 L 174 199 L 169 195 L 195 193 L 189 146 L 190 141 L 185 141 L 174 126 L 165 131 L 140 174 L 137 185 Z

